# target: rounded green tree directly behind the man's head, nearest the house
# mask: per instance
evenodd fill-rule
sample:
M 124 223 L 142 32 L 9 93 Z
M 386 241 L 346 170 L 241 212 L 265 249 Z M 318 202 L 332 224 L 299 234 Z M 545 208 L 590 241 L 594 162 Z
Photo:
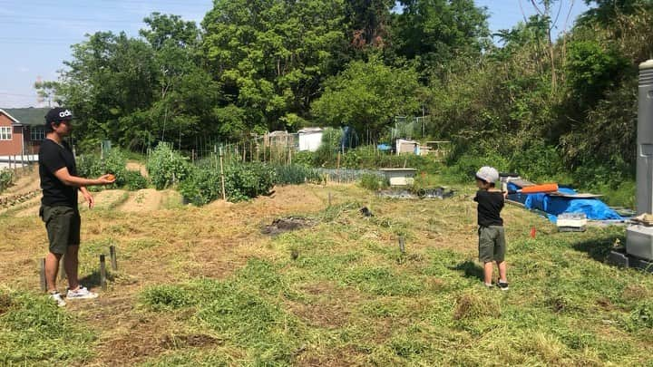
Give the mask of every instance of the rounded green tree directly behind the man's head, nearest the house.
M 63 101 L 73 108 L 79 123 L 76 136 L 86 140 L 109 139 L 130 145 L 135 131 L 148 130 L 146 120 L 122 124 L 126 116 L 141 113 L 155 100 L 157 72 L 148 43 L 126 34 L 98 32 L 73 45 L 73 60 L 60 77 Z

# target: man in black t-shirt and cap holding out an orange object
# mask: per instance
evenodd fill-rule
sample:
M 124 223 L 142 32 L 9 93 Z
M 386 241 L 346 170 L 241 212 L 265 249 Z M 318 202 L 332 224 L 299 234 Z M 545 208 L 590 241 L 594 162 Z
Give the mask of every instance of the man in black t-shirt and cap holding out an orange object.
M 56 288 L 59 261 L 63 256 L 63 267 L 68 277 L 68 299 L 95 298 L 96 294 L 79 284 L 77 268 L 80 245 L 81 219 L 77 208 L 77 190 L 82 192 L 89 208 L 94 201 L 86 186 L 111 184 L 110 175 L 99 179 L 77 177 L 73 151 L 63 138 L 70 135 L 73 113 L 61 107 L 45 115 L 46 136 L 39 149 L 39 176 L 41 178 L 40 216 L 45 223 L 49 252 L 45 257 L 45 282 L 50 297 L 60 306 L 65 305 Z

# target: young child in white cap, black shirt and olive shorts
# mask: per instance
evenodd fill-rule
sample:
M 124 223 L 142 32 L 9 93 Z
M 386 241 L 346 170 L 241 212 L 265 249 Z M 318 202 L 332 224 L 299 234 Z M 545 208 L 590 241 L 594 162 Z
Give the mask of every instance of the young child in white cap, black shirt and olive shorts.
M 492 167 L 482 167 L 476 172 L 476 186 L 479 190 L 474 201 L 478 203 L 479 260 L 483 263 L 485 286 L 492 288 L 492 262 L 496 262 L 499 267 L 497 285 L 507 291 L 508 278 L 504 259 L 506 244 L 501 217 L 505 194 L 494 188 L 494 182 L 497 180 L 499 172 Z

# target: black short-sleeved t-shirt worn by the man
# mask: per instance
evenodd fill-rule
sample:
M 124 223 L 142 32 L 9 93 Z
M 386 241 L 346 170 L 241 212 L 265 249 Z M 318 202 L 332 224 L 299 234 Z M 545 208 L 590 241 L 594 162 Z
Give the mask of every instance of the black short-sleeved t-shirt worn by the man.
M 72 176 L 77 176 L 73 152 L 65 141 L 58 144 L 54 140 L 44 139 L 39 149 L 39 176 L 43 198 L 41 203 L 48 207 L 63 206 L 77 208 L 77 188 L 64 185 L 54 176 L 54 172 L 63 167 Z

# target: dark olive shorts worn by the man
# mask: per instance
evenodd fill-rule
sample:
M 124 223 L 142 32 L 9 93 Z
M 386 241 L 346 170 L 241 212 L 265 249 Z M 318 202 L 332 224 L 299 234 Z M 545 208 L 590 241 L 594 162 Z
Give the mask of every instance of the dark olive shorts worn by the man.
M 42 206 L 39 214 L 45 222 L 51 253 L 63 255 L 68 246 L 79 246 L 82 219 L 76 209 Z

